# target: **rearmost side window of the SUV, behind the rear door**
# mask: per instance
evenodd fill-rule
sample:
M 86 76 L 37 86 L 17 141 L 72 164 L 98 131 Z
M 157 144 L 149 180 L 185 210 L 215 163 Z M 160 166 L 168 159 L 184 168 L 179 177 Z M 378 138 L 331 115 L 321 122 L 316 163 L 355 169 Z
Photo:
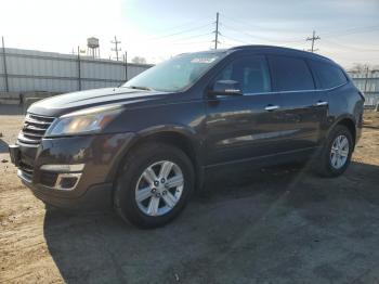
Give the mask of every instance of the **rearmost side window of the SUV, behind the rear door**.
M 343 72 L 337 66 L 318 61 L 310 61 L 310 64 L 323 89 L 340 86 L 348 81 Z

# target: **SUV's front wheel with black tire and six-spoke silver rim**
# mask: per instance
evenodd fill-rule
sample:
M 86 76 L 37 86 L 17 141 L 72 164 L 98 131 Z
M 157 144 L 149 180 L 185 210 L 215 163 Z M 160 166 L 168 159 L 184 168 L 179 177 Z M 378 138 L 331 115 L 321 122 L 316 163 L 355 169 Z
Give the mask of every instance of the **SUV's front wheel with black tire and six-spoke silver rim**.
M 161 227 L 185 207 L 194 190 L 186 154 L 165 143 L 147 143 L 128 155 L 114 194 L 118 215 L 139 228 Z

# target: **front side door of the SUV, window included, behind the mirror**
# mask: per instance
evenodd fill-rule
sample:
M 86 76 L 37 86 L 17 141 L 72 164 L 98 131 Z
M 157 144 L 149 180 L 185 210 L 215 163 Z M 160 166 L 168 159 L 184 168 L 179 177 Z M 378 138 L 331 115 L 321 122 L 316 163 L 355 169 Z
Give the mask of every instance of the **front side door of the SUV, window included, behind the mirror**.
M 264 55 L 238 56 L 210 82 L 238 81 L 243 95 L 207 96 L 207 164 L 250 159 L 282 151 L 280 95 L 271 88 Z

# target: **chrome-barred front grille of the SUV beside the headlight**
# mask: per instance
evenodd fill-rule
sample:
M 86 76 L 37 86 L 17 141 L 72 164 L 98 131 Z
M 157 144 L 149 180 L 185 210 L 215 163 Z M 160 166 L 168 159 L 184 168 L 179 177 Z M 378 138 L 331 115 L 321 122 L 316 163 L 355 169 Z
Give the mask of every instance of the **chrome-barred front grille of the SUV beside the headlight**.
M 17 138 L 18 142 L 23 144 L 38 145 L 53 120 L 53 117 L 27 114 L 23 130 Z

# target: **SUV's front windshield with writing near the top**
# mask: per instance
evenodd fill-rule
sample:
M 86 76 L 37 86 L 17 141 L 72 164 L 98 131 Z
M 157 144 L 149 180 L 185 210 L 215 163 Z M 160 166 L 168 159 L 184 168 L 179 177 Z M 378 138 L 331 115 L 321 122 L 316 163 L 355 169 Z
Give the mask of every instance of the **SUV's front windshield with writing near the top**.
M 223 52 L 178 55 L 147 69 L 122 87 L 167 92 L 182 91 L 197 81 L 223 55 Z

